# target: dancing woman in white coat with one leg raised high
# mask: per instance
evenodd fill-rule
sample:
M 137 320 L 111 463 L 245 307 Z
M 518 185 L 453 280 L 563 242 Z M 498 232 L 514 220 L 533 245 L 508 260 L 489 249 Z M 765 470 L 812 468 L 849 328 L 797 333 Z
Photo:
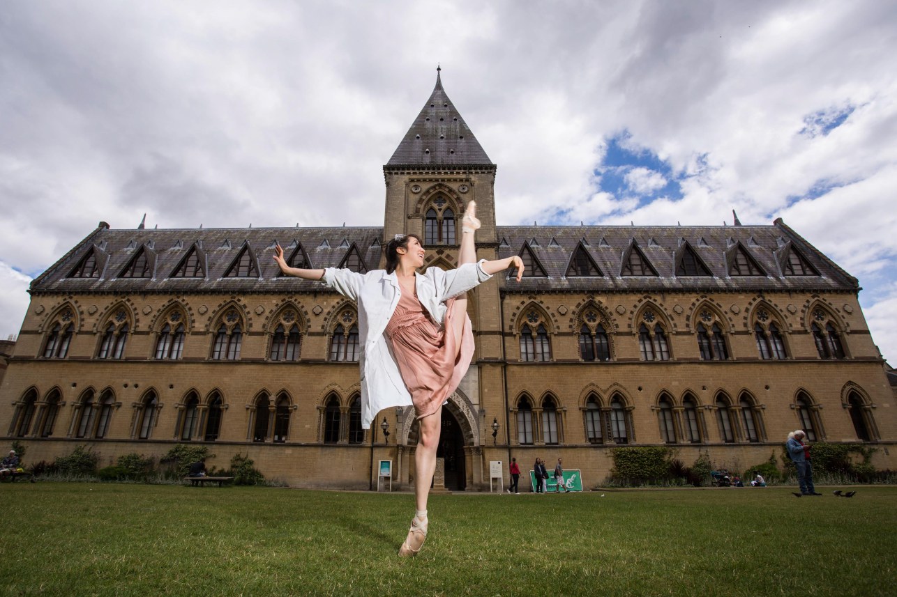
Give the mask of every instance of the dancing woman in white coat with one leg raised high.
M 476 262 L 474 236 L 480 228 L 476 203 L 467 203 L 461 221 L 458 266 L 417 273 L 425 250 L 414 234 L 396 235 L 386 246 L 386 269 L 356 273 L 346 268 L 300 269 L 274 249 L 274 261 L 286 275 L 322 281 L 358 306 L 361 351 L 361 427 L 391 406 L 414 405 L 420 436 L 414 451 L 414 501 L 417 511 L 399 556 L 414 556 L 427 537 L 427 497 L 436 470 L 442 402 L 455 391 L 474 354 L 474 333 L 467 316 L 467 290 L 513 266 L 517 281 L 523 260 Z

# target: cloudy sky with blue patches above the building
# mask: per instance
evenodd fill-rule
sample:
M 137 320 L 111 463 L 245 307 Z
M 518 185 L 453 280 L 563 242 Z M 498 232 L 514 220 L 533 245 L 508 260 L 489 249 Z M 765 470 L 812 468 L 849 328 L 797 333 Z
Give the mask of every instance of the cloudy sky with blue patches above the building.
M 448 97 L 500 225 L 771 224 L 856 276 L 897 361 L 897 3 L 0 3 L 0 338 L 107 221 L 382 225 Z

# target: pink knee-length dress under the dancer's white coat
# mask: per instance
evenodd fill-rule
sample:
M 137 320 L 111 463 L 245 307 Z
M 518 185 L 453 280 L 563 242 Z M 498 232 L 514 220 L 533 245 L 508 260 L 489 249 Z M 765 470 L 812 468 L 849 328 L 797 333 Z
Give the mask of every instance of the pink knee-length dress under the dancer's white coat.
M 405 292 L 387 324 L 387 337 L 418 419 L 439 411 L 461 383 L 474 355 L 470 320 L 464 311 L 454 308 L 454 303 L 455 299 L 446 301 L 448 309 L 440 327 L 433 323 L 421 301 Z M 451 333 L 458 316 L 464 317 L 461 350 L 457 350 L 455 334 Z

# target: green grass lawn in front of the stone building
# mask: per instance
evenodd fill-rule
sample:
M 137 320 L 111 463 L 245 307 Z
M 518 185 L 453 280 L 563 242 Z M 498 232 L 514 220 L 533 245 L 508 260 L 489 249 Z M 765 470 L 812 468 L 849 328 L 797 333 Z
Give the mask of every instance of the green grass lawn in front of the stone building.
M 434 496 L 4 483 L 0 594 L 893 595 L 897 488 Z

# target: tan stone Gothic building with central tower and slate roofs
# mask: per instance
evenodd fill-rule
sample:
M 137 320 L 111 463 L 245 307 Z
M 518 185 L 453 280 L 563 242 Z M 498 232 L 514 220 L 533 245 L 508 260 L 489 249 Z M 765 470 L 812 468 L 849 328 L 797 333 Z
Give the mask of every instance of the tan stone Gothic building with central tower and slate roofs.
M 498 226 L 496 166 L 442 88 L 384 166 L 382 227 L 111 229 L 30 286 L 0 387 L 0 432 L 32 462 L 90 445 L 102 464 L 182 442 L 211 465 L 248 454 L 268 478 L 367 489 L 374 463 L 414 477 L 410 409 L 361 428 L 353 303 L 294 266 L 382 264 L 414 232 L 451 268 L 475 199 L 480 257 L 520 255 L 521 282 L 471 292 L 474 364 L 443 409 L 449 489 L 489 463 L 563 456 L 585 487 L 614 446 L 671 446 L 733 469 L 779 454 L 789 430 L 868 442 L 894 468 L 893 393 L 858 281 L 783 221 L 743 226 Z M 386 433 L 384 433 L 384 428 Z M 387 435 L 388 434 L 388 435 Z M 524 480 L 528 486 L 528 480 Z

